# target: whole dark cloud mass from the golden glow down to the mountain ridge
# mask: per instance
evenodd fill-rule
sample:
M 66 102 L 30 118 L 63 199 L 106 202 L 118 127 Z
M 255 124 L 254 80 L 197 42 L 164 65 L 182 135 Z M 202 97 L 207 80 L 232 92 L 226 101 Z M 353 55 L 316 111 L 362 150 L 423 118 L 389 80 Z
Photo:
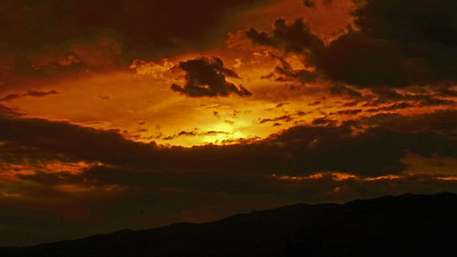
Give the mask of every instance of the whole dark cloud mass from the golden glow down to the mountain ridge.
M 408 168 L 401 161 L 407 155 L 455 160 L 456 117 L 455 111 L 411 117 L 380 114 L 340 126 L 322 118 L 315 122 L 319 126 L 297 126 L 254 142 L 165 148 L 134 143 L 115 131 L 0 116 L 2 165 L 16 164 L 18 169 L 52 160 L 91 164 L 71 174 L 37 169 L 17 174 L 13 184 L 1 184 L 0 192 L 21 197 L 0 198 L 0 220 L 6 220 L 0 227 L 9 228 L 0 239 L 13 244 L 56 241 L 165 225 L 189 215 L 195 215 L 193 221 L 213 220 L 296 201 L 455 190 L 455 181 L 430 176 L 362 179 L 401 175 Z M 0 167 L 0 175 L 8 172 Z M 330 172 L 361 179 L 338 181 Z M 300 178 L 316 173 L 323 176 Z M 59 189 L 65 187 L 80 190 Z M 41 215 L 40 210 L 48 212 Z M 198 214 L 203 210 L 212 215 Z M 59 225 L 59 217 L 69 219 L 68 225 Z M 34 219 L 37 224 L 30 224 Z M 26 224 L 26 232 L 21 224 Z M 27 237 L 32 231 L 37 236 Z

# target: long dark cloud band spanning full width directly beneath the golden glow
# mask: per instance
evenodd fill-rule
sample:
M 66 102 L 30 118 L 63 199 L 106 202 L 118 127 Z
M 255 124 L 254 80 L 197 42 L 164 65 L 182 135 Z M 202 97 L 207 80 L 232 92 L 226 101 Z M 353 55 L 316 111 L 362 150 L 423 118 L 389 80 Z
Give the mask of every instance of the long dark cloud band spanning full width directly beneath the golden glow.
M 184 171 L 186 167 L 189 172 L 249 170 L 260 174 L 280 171 L 310 174 L 330 170 L 381 176 L 402 171 L 404 167 L 399 161 L 408 153 L 455 157 L 457 126 L 449 122 L 457 120 L 455 115 L 455 112 L 419 117 L 381 115 L 341 126 L 329 123 L 294 127 L 248 145 L 206 145 L 190 149 L 134 143 L 114 131 L 68 123 L 2 117 L 0 158 L 6 163 L 19 164 L 27 159 L 101 162 L 140 170 Z M 287 117 L 279 117 L 277 121 L 285 119 Z M 363 132 L 358 132 L 360 130 Z

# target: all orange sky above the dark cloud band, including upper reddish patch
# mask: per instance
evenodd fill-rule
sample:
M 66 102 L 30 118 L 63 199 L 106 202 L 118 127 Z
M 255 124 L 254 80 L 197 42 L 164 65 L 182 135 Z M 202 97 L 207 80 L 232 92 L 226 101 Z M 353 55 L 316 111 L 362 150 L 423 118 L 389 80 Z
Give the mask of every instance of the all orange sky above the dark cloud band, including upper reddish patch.
M 156 61 L 136 59 L 131 69 L 116 69 L 86 76 L 51 80 L 40 86 L 41 91 L 58 91 L 46 98 L 21 97 L 5 105 L 23 113 L 24 117 L 67 121 L 82 126 L 119 130 L 127 138 L 140 142 L 154 141 L 161 145 L 230 144 L 239 139 L 262 139 L 270 134 L 299 124 L 310 124 L 315 119 L 331 116 L 343 122 L 378 112 L 364 112 L 372 107 L 361 107 L 363 102 L 350 108 L 348 97 L 329 95 L 324 80 L 313 83 L 292 84 L 272 79 L 261 79 L 271 73 L 281 62 L 272 55 L 282 56 L 292 69 L 305 69 L 303 58 L 284 54 L 279 50 L 255 46 L 243 35 L 247 27 L 268 29 L 278 17 L 288 21 L 305 16 L 310 27 L 319 37 L 330 42 L 351 24 L 350 1 L 336 1 L 333 5 L 307 8 L 302 1 L 280 1 L 236 15 L 242 24 L 230 27 L 226 44 L 213 46 L 205 51 L 169 56 Z M 260 18 L 261 17 L 261 18 Z M 241 27 L 242 26 L 242 27 Z M 101 41 L 99 44 L 111 43 Z M 111 56 L 90 56 L 90 47 L 74 47 L 80 59 L 109 62 Z M 85 57 L 85 55 L 87 57 Z M 172 70 L 179 61 L 201 56 L 221 58 L 225 66 L 239 74 L 240 79 L 228 79 L 253 92 L 251 97 L 202 97 L 189 98 L 170 91 L 173 82 L 182 82 L 184 74 Z M 61 59 L 62 65 L 68 65 Z M 70 65 L 70 64 L 69 64 Z M 33 85 L 33 83 L 32 83 Z M 294 90 L 290 90 L 290 88 Z M 15 93 L 17 91 L 11 91 Z M 369 91 L 364 93 L 369 94 Z M 5 95 L 8 93 L 5 92 Z M 314 104 L 319 102 L 317 104 Z M 383 105 L 388 106 L 388 104 Z M 382 107 L 382 106 L 379 106 Z M 339 111 L 360 109 L 357 114 L 338 114 Z M 433 112 L 453 109 L 449 106 L 409 108 L 396 112 Z M 394 111 L 391 111 L 394 112 Z M 276 119 L 276 120 L 275 120 Z M 263 122 L 262 120 L 268 122 Z M 184 133 L 183 133 L 184 132 Z M 181 133 L 181 135 L 179 135 Z M 192 133 L 186 135 L 185 133 Z

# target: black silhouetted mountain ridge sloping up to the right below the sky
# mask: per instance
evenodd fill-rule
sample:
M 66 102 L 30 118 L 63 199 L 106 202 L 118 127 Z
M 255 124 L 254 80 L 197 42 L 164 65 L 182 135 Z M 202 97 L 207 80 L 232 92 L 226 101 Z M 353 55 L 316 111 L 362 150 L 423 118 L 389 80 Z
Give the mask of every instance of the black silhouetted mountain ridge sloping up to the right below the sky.
M 3 248 L 0 256 L 457 256 L 457 195 L 297 204 L 202 224 Z

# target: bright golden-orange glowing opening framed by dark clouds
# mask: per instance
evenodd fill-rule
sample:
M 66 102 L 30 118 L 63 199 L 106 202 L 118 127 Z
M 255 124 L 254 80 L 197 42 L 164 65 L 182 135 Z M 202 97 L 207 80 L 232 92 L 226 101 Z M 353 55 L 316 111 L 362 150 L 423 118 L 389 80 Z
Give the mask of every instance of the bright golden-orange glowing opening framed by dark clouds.
M 24 113 L 24 117 L 115 129 L 134 141 L 182 146 L 221 145 L 238 139 L 265 138 L 324 117 L 342 123 L 383 112 L 409 116 L 450 108 L 417 106 L 367 112 L 373 107 L 363 106 L 364 102 L 345 107 L 345 103 L 353 100 L 344 96 L 328 97 L 324 81 L 297 84 L 292 89 L 287 83 L 261 79 L 281 64 L 271 57 L 270 51 L 240 53 L 244 55 L 232 57 L 233 53 L 228 52 L 218 56 L 222 56 L 228 68 L 241 77 L 241 80 L 230 81 L 252 91 L 251 97 L 189 98 L 180 95 L 170 90 L 173 82 L 183 82 L 182 72 L 170 70 L 179 59 L 164 59 L 160 62 L 135 60 L 130 72 L 112 71 L 59 80 L 47 88 L 58 94 L 48 95 L 46 100 L 23 97 L 7 104 Z M 298 56 L 291 54 L 285 59 L 293 69 L 304 69 Z M 377 108 L 387 106 L 388 103 L 380 104 Z M 351 110 L 360 112 L 345 112 Z

